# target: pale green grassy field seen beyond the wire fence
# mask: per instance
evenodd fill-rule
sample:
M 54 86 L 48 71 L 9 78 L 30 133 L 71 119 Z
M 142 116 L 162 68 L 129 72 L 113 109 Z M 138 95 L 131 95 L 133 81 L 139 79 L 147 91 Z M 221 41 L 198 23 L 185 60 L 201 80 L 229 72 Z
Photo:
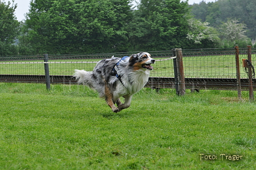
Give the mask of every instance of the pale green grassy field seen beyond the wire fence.
M 255 54 L 252 55 L 256 57 Z M 240 55 L 241 78 L 247 78 L 247 74 L 242 70 L 242 58 Z M 156 58 L 165 59 L 165 58 Z M 75 63 L 75 62 L 97 62 L 100 59 L 66 59 L 49 60 L 50 75 L 73 75 L 75 69 L 92 71 L 96 63 Z M 25 64 L 19 64 L 25 62 Z M 39 62 L 39 63 L 29 63 Z M 63 62 L 63 63 L 54 63 Z M 65 63 L 73 62 L 73 63 Z M 44 64 L 42 60 L 19 60 L 18 63 L 1 64 L 0 74 L 24 74 L 24 75 L 44 75 Z M 151 71 L 151 76 L 174 77 L 173 60 L 157 61 Z M 186 78 L 236 78 L 235 55 L 209 55 L 209 56 L 184 56 L 183 67 Z

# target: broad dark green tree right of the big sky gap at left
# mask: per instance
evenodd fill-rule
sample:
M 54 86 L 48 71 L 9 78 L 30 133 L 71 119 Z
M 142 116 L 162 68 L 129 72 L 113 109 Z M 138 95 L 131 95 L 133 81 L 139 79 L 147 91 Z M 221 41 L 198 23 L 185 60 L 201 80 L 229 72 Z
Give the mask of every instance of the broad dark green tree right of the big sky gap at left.
M 127 0 L 34 0 L 26 42 L 39 54 L 115 52 L 127 48 Z

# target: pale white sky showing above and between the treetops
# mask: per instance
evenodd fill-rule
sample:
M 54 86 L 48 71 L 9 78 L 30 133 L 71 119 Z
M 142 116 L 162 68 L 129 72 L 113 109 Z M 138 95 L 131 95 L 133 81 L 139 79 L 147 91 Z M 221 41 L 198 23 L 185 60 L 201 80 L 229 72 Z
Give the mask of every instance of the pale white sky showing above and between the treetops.
M 0 0 L 3 2 L 8 2 L 11 0 Z M 139 1 L 139 0 L 136 0 Z M 193 3 L 199 3 L 202 0 L 189 0 L 189 5 L 193 5 Z M 204 0 L 206 3 L 207 2 L 215 2 L 215 0 Z M 29 4 L 30 4 L 31 0 L 14 0 L 14 3 L 17 3 L 17 9 L 15 10 L 15 15 L 18 19 L 18 21 L 23 21 L 25 20 L 25 14 L 29 12 Z

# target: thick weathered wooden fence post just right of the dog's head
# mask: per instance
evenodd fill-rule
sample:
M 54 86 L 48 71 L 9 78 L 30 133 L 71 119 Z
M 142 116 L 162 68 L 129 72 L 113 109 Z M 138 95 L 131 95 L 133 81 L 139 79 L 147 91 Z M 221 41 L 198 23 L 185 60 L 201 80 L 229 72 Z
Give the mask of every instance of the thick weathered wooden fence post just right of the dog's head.
M 185 76 L 184 76 L 184 68 L 183 68 L 183 60 L 182 60 L 182 49 L 176 48 L 175 49 L 176 56 L 177 56 L 177 75 L 178 75 L 178 95 L 185 95 Z

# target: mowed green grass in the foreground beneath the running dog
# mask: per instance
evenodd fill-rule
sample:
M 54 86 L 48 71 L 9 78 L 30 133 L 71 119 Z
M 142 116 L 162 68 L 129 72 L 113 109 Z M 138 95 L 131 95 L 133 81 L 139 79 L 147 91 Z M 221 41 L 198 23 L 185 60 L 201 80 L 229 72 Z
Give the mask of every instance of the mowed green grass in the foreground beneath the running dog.
M 256 168 L 247 92 L 145 88 L 118 113 L 83 86 L 0 83 L 0 94 L 0 169 Z

